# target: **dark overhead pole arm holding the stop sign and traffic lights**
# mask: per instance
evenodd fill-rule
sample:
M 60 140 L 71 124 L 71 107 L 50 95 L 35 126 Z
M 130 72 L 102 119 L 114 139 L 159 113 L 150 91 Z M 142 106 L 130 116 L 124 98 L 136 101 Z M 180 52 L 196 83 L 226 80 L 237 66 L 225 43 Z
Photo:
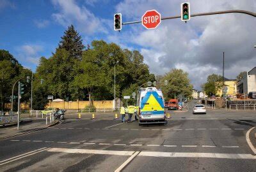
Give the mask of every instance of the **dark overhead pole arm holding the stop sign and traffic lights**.
M 226 13 L 243 13 L 246 15 L 251 15 L 253 17 L 256 17 L 256 13 L 253 13 L 252 11 L 245 11 L 245 10 L 226 10 L 226 11 L 215 11 L 215 12 L 210 12 L 210 13 L 196 13 L 193 15 L 190 15 L 190 17 L 197 17 L 197 16 L 203 16 L 203 15 L 218 15 L 218 14 L 226 14 Z M 180 18 L 180 15 L 173 16 L 173 17 L 163 17 L 161 20 L 168 20 L 168 19 L 173 19 L 173 18 Z M 124 22 L 122 25 L 127 25 L 127 24 L 138 24 L 141 23 L 140 21 L 134 21 L 134 22 Z

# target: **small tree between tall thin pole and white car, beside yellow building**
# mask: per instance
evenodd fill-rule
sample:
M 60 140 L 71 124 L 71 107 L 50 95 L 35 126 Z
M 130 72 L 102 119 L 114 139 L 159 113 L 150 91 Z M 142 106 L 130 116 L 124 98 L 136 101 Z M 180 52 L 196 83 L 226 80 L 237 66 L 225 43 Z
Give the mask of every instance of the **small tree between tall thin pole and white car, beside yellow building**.
M 222 76 L 212 74 L 207 77 L 207 82 L 202 85 L 202 89 L 207 96 L 216 95 L 218 90 L 222 88 Z

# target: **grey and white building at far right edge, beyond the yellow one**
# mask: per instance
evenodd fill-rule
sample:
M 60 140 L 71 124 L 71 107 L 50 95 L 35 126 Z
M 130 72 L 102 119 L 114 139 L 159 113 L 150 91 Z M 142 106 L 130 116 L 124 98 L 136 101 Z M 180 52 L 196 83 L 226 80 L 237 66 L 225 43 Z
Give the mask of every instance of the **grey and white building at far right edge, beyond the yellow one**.
M 239 80 L 237 92 L 246 95 L 249 92 L 256 92 L 256 67 L 244 74 L 241 80 Z

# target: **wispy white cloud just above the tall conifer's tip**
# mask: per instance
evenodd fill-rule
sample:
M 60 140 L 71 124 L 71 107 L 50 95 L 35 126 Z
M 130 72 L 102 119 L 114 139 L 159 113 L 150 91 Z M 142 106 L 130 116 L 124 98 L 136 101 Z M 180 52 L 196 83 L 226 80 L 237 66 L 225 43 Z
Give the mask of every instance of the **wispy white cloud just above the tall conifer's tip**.
M 78 6 L 73 0 L 52 0 L 52 3 L 59 10 L 58 13 L 53 13 L 52 17 L 64 27 L 74 24 L 79 31 L 86 34 L 107 33 L 100 19 L 95 17 L 85 6 Z

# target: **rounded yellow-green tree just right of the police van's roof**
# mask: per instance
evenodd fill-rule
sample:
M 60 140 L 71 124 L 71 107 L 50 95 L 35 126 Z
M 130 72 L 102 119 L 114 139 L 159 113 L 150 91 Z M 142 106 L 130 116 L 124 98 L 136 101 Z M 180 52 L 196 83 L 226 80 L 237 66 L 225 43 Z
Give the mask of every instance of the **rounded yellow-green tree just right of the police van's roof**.
M 192 94 L 193 85 L 190 84 L 188 73 L 182 69 L 172 69 L 163 77 L 158 76 L 157 78 L 161 78 L 160 87 L 166 98 L 174 98 L 179 95 L 189 97 Z M 164 80 L 167 80 L 167 85 L 164 85 Z

